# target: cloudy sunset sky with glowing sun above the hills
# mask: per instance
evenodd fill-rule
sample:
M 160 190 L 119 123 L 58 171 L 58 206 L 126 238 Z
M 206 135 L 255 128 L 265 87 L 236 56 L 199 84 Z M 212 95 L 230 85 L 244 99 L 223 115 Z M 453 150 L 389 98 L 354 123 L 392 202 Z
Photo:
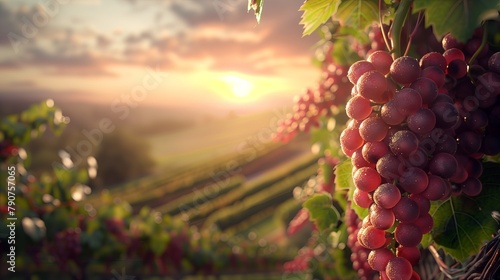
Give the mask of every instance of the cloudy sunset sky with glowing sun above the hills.
M 0 95 L 165 108 L 292 104 L 318 78 L 302 0 L 0 0 Z M 41 4 L 41 5 L 40 5 Z

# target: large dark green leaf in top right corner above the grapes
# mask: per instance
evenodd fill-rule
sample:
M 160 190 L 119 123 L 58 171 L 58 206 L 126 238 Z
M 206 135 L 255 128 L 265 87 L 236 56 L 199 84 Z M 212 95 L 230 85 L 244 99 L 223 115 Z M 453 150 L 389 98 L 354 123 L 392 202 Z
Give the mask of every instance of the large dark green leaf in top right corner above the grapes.
M 414 12 L 424 11 L 425 25 L 433 26 L 437 38 L 450 32 L 458 41 L 472 37 L 481 21 L 498 17 L 498 0 L 415 0 Z

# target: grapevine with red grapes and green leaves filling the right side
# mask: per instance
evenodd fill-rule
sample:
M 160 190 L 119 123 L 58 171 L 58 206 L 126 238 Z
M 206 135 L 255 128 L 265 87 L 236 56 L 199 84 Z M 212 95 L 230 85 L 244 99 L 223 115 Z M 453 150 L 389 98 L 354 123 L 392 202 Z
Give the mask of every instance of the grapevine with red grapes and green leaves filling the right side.
M 500 277 L 491 266 L 475 273 L 460 268 L 474 265 L 471 257 L 499 228 L 493 216 L 500 193 L 491 181 L 500 168 L 499 9 L 499 1 L 309 0 L 302 6 L 304 34 L 320 21 L 336 26 L 323 36 L 334 47 L 322 65 L 342 64 L 352 84 L 347 98 L 330 88 L 328 100 L 340 101 L 330 106 L 340 112 L 314 119 L 311 136 L 326 138 L 319 152 L 340 162 L 330 194 L 346 225 L 334 219 L 318 231 L 349 236 L 344 241 L 361 279 L 434 277 L 422 268 L 429 265 L 420 260 L 427 250 L 445 277 Z M 332 19 L 318 17 L 320 10 Z M 346 42 L 350 49 L 339 55 L 337 46 Z M 316 104 L 327 101 L 317 96 Z M 334 129 L 322 126 L 328 118 Z M 285 121 L 280 131 L 308 131 L 297 127 Z

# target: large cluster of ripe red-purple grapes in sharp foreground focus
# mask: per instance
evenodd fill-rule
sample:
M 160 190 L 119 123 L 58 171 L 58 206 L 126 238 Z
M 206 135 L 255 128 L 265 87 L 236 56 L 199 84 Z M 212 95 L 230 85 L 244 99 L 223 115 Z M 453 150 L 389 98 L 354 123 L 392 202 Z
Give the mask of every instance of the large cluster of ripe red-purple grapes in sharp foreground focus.
M 474 79 L 464 53 L 445 49 L 420 60 L 376 51 L 348 71 L 355 86 L 340 142 L 353 163 L 353 200 L 369 209 L 357 240 L 382 279 L 419 279 L 412 266 L 433 227 L 430 201 L 478 195 L 479 159 L 499 152 L 498 128 L 488 125 L 499 116 L 497 54 L 492 72 Z

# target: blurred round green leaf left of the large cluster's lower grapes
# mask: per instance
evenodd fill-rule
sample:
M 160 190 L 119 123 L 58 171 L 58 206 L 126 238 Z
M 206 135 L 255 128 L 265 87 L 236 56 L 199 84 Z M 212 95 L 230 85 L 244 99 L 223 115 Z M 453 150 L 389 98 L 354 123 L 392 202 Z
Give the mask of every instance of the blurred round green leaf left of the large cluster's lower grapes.
M 332 205 L 331 195 L 314 194 L 304 202 L 303 206 L 309 211 L 309 219 L 316 224 L 319 230 L 336 227 L 340 214 Z

